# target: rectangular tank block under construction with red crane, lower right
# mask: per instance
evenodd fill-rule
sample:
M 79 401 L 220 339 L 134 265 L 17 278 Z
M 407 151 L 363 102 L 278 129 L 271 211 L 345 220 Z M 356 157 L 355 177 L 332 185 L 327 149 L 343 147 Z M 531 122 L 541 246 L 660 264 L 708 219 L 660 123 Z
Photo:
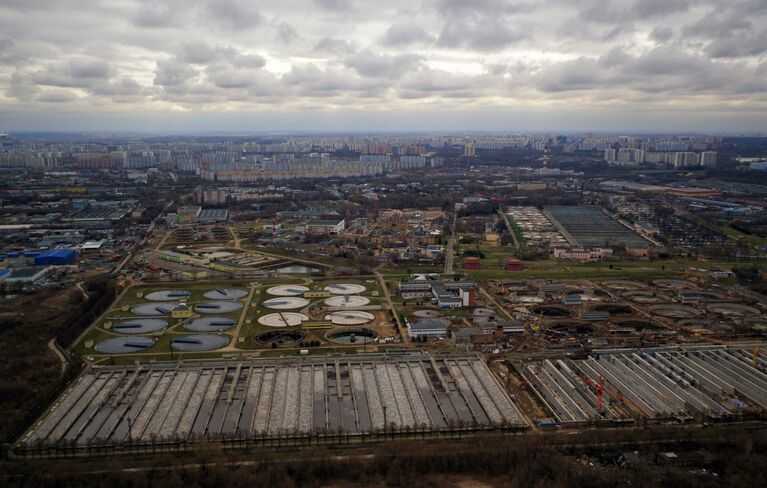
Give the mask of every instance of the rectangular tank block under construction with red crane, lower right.
M 612 349 L 509 364 L 545 414 L 542 427 L 734 421 L 767 410 L 767 362 L 739 348 Z

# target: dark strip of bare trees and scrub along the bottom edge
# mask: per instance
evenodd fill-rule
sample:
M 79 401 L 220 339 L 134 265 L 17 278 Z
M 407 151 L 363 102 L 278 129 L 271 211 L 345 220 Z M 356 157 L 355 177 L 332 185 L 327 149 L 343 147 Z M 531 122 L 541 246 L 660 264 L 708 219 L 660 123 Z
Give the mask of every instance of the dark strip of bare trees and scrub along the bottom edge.
M 669 440 L 670 439 L 670 440 Z M 618 443 L 621 444 L 618 444 Z M 607 445 L 604 445 L 607 443 Z M 620 445 L 622 447 L 614 447 Z M 593 446 L 593 447 L 589 447 Z M 611 447 L 612 446 L 612 447 Z M 362 450 L 360 450 L 362 449 Z M 108 464 L 40 461 L 17 466 L 24 476 L 7 486 L 40 488 L 94 484 L 133 488 L 164 487 L 457 487 L 476 482 L 509 487 L 763 486 L 767 467 L 764 429 L 677 429 L 675 432 L 584 431 L 578 436 L 472 436 L 463 439 L 402 440 L 345 450 L 305 447 L 301 451 L 251 448 L 237 455 L 210 445 L 179 455 L 157 453 L 142 460 L 112 459 Z M 600 455 L 615 449 L 637 451 L 629 468 L 601 465 Z M 663 466 L 661 451 L 710 454 L 704 466 Z M 370 454 L 373 454 L 372 456 Z M 247 460 L 242 463 L 239 461 Z M 130 466 L 141 469 L 123 470 Z M 184 469 L 170 469 L 183 465 Z M 79 472 L 78 472 L 79 471 Z M 716 473 L 715 475 L 713 473 Z

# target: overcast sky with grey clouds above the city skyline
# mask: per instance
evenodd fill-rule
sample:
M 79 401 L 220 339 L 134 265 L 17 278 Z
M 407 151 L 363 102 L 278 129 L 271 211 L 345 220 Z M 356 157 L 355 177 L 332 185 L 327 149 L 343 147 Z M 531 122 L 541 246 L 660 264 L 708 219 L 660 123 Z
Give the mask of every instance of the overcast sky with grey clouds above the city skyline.
M 0 129 L 767 131 L 767 0 L 0 0 Z

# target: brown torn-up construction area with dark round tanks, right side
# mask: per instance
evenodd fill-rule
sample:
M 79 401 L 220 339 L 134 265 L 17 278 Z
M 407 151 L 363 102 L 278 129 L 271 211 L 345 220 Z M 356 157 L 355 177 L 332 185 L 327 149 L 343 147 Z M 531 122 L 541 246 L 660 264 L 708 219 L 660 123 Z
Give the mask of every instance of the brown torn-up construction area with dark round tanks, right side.
M 525 349 L 622 347 L 756 338 L 764 306 L 705 280 L 525 280 L 490 284 L 530 332 Z M 518 345 L 521 347 L 521 345 Z

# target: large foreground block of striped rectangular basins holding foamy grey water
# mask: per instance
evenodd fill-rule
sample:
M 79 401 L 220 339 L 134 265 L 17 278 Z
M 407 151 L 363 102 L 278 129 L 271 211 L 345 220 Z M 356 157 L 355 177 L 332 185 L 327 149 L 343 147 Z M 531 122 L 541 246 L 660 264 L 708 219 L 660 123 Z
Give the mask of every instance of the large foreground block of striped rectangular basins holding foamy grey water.
M 94 367 L 19 447 L 527 427 L 480 358 L 413 352 Z

